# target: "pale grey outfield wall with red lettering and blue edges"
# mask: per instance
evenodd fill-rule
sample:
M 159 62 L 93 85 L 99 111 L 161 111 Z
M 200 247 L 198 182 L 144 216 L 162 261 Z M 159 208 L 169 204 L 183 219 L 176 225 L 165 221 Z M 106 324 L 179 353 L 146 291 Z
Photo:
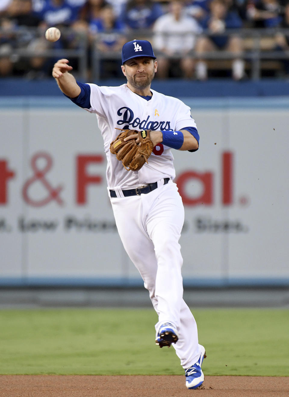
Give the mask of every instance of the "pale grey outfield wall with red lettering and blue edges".
M 198 152 L 173 150 L 185 285 L 288 284 L 289 98 L 183 100 L 200 132 Z M 0 98 L 0 285 L 142 284 L 105 170 L 95 115 Z

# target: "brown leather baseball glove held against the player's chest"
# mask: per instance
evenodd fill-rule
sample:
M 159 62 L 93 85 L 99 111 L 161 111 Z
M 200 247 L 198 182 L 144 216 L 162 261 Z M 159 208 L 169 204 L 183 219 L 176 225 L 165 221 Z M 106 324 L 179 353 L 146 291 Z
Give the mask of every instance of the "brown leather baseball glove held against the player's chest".
M 112 154 L 116 154 L 116 158 L 122 161 L 126 170 L 138 171 L 147 163 L 147 159 L 153 151 L 153 143 L 151 142 L 150 130 L 137 131 L 136 129 L 122 129 L 116 139 L 111 143 L 110 150 Z M 136 143 L 136 139 L 124 141 L 129 135 L 138 134 L 140 143 Z

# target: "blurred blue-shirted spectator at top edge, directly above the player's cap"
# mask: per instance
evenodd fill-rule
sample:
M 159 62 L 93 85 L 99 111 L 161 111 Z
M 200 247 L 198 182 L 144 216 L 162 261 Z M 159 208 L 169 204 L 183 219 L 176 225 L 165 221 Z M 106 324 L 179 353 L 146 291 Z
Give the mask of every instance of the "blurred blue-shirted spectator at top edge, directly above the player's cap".
M 161 5 L 152 0 L 128 0 L 122 6 L 120 19 L 128 29 L 149 29 L 163 14 Z

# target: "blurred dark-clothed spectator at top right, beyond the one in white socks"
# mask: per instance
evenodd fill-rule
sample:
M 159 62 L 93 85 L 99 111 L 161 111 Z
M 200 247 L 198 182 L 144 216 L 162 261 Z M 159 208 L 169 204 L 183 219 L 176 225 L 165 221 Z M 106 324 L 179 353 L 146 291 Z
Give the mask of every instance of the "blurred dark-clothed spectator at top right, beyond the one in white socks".
M 247 19 L 251 27 L 276 27 L 282 20 L 282 7 L 278 0 L 249 0 Z

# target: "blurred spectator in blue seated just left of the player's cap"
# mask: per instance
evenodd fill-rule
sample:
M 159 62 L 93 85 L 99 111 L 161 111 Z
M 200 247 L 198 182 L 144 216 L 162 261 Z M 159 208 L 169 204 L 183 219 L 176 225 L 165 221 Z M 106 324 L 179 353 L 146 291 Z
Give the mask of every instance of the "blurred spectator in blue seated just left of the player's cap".
M 106 4 L 102 8 L 99 18 L 91 20 L 89 32 L 91 38 L 96 39 L 96 42 L 92 42 L 92 45 L 96 45 L 97 50 L 100 52 L 101 77 L 121 77 L 122 71 L 119 56 L 116 59 L 112 59 L 110 55 L 113 52 L 120 53 L 122 46 L 126 42 L 126 37 L 123 34 L 124 25 L 116 18 L 111 4 Z

